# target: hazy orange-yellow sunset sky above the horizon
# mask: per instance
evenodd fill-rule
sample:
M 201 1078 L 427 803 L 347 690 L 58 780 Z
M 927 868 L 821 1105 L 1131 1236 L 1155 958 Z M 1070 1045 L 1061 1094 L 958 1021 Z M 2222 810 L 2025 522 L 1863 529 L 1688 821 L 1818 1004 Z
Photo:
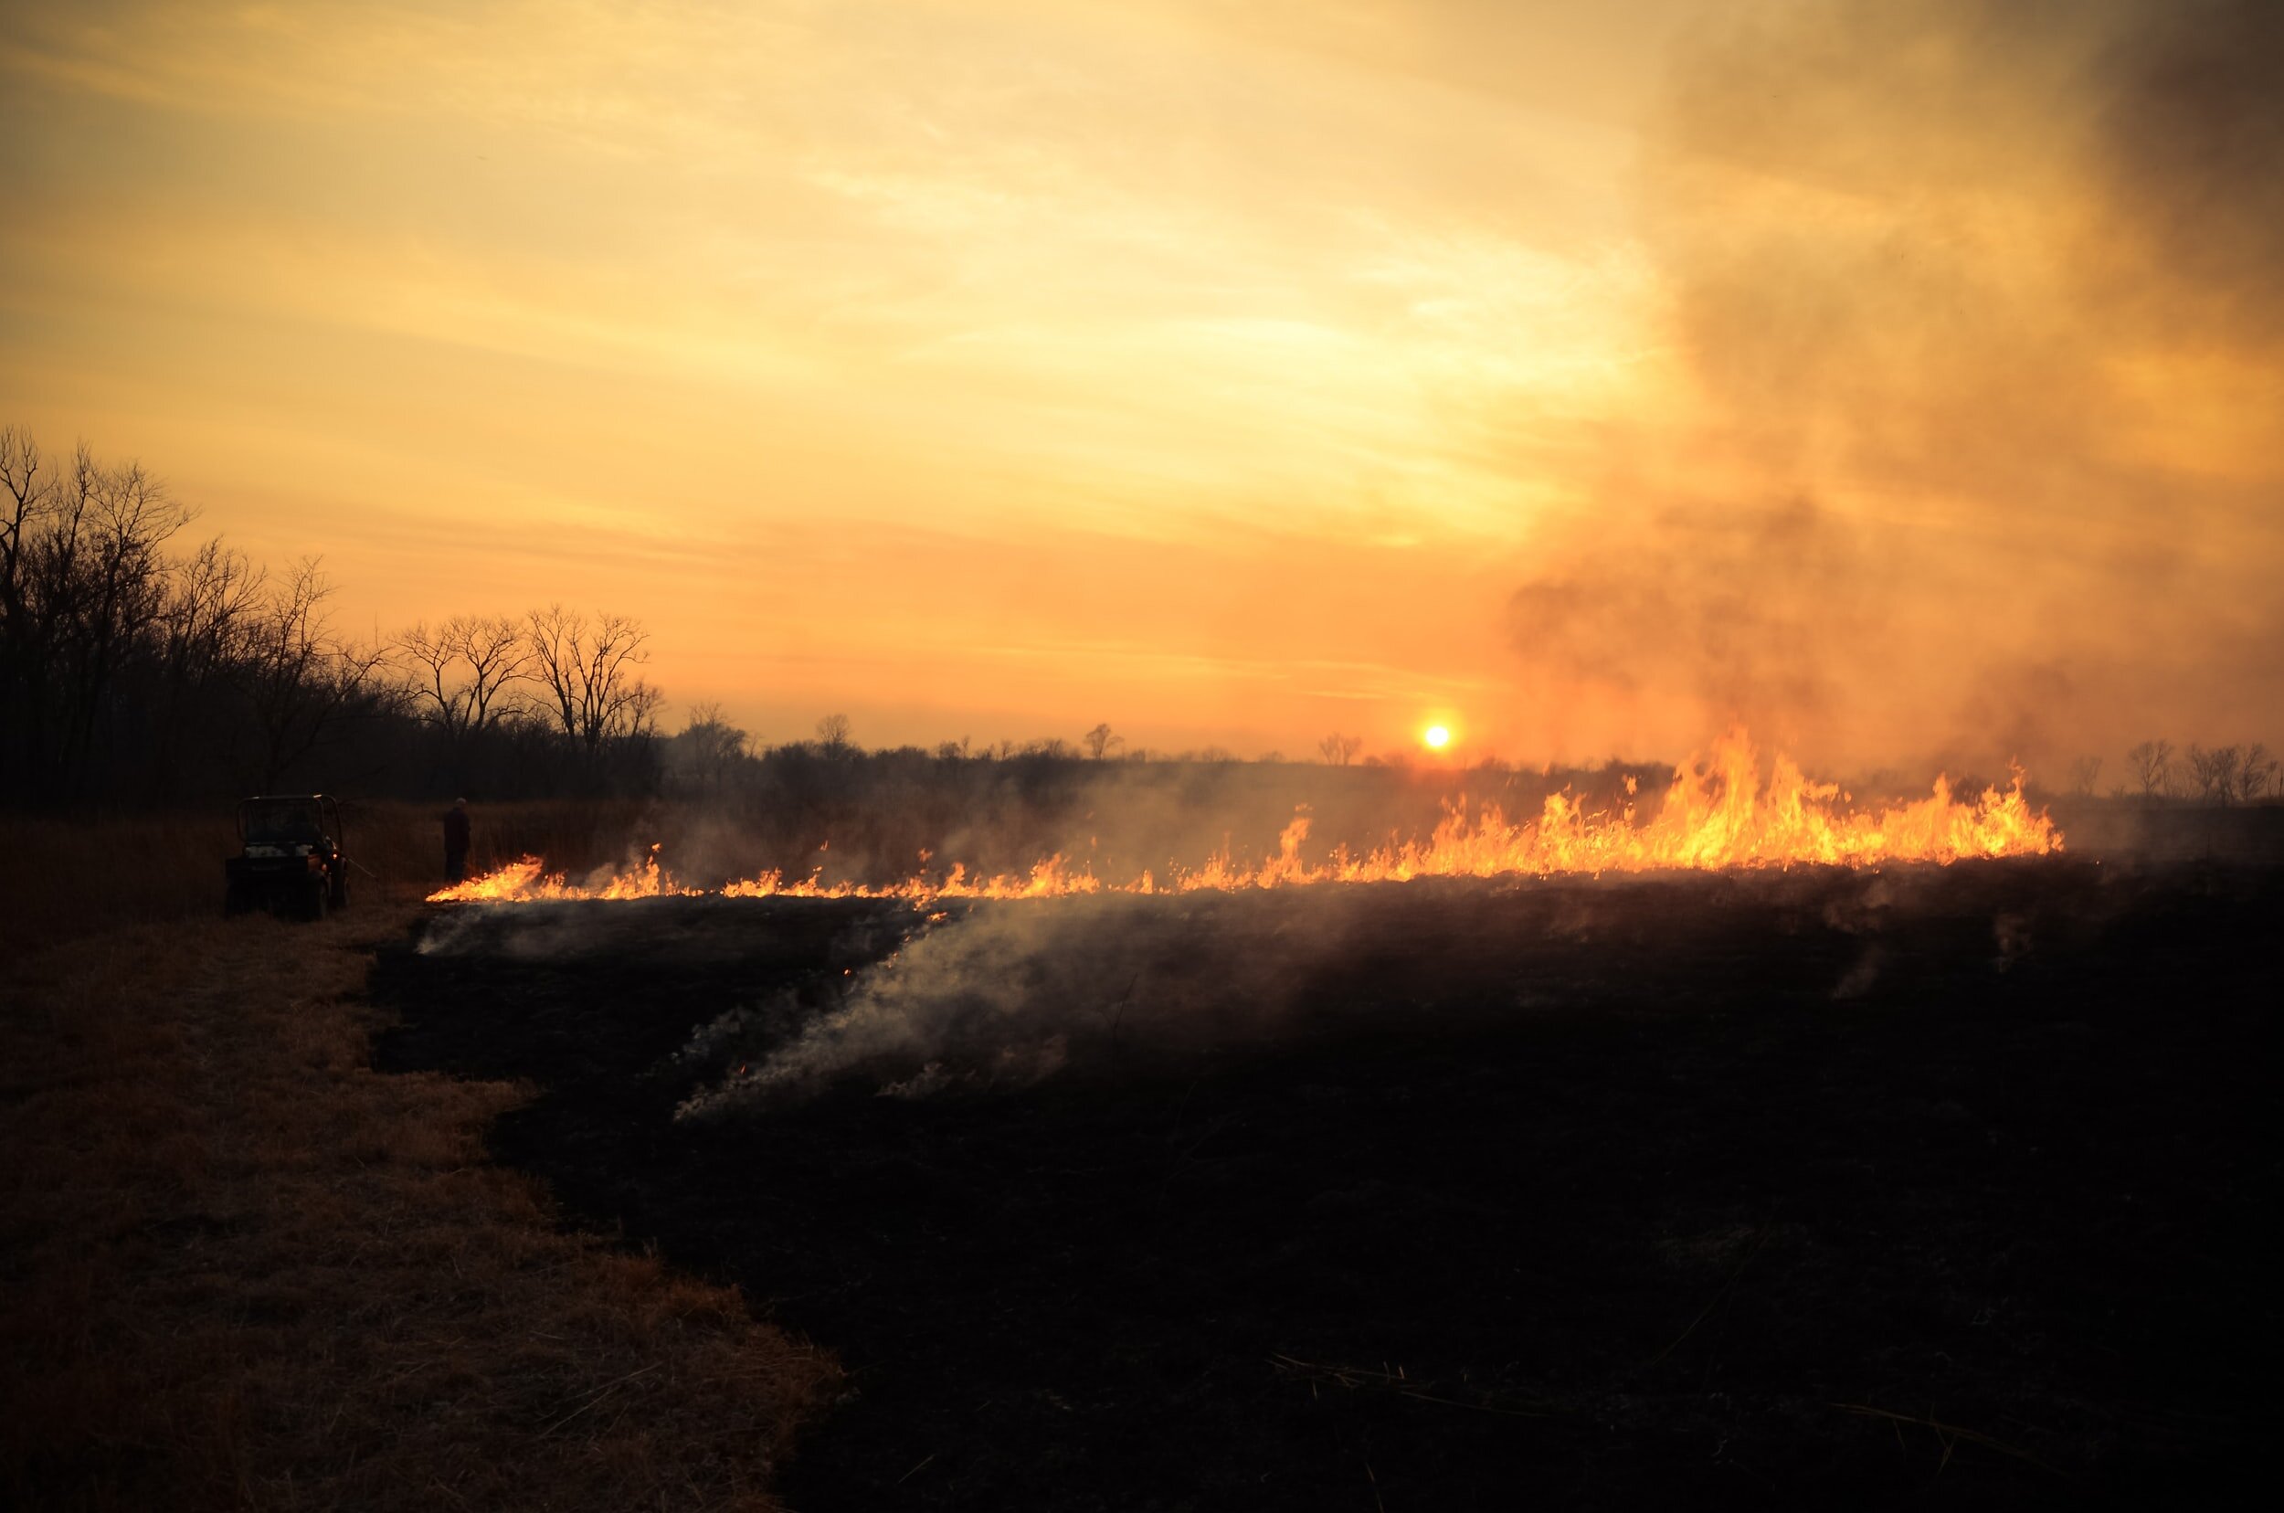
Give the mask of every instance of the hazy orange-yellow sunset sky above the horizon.
M 2101 39 L 1907 9 L 11 7 L 0 418 L 763 741 L 2259 738 L 2275 331 L 2051 318 Z

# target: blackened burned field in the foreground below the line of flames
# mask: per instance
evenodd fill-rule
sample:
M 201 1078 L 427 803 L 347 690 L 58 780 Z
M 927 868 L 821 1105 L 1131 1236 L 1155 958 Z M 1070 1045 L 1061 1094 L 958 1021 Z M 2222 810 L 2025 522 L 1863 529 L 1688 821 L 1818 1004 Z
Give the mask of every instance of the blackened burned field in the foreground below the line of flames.
M 852 1367 L 797 1508 L 2179 1499 L 2275 1422 L 2277 871 L 443 910 L 393 1067 Z M 692 1108 L 676 1118 L 676 1108 Z

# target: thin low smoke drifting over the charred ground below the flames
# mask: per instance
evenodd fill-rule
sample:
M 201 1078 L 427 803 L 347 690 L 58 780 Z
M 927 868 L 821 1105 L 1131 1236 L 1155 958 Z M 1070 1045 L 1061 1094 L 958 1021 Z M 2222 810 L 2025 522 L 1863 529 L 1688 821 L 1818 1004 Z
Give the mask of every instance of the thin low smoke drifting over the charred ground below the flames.
M 2026 862 L 2024 866 L 2037 866 Z M 1183 898 L 1057 898 L 943 910 L 900 948 L 747 1003 L 678 1056 L 678 1118 L 825 1095 L 941 1097 L 1160 1076 L 1332 1038 L 1434 1035 L 1592 1003 L 1626 964 L 1649 983 L 1761 939 L 1834 1003 L 2014 969 L 2046 935 L 2097 928 L 2099 868 L 2021 900 L 2024 873 L 1909 868 L 1439 880 Z M 687 907 L 676 900 L 674 907 Z M 729 916 L 722 916 L 729 923 Z M 1642 987 L 1752 992 L 1681 967 Z

